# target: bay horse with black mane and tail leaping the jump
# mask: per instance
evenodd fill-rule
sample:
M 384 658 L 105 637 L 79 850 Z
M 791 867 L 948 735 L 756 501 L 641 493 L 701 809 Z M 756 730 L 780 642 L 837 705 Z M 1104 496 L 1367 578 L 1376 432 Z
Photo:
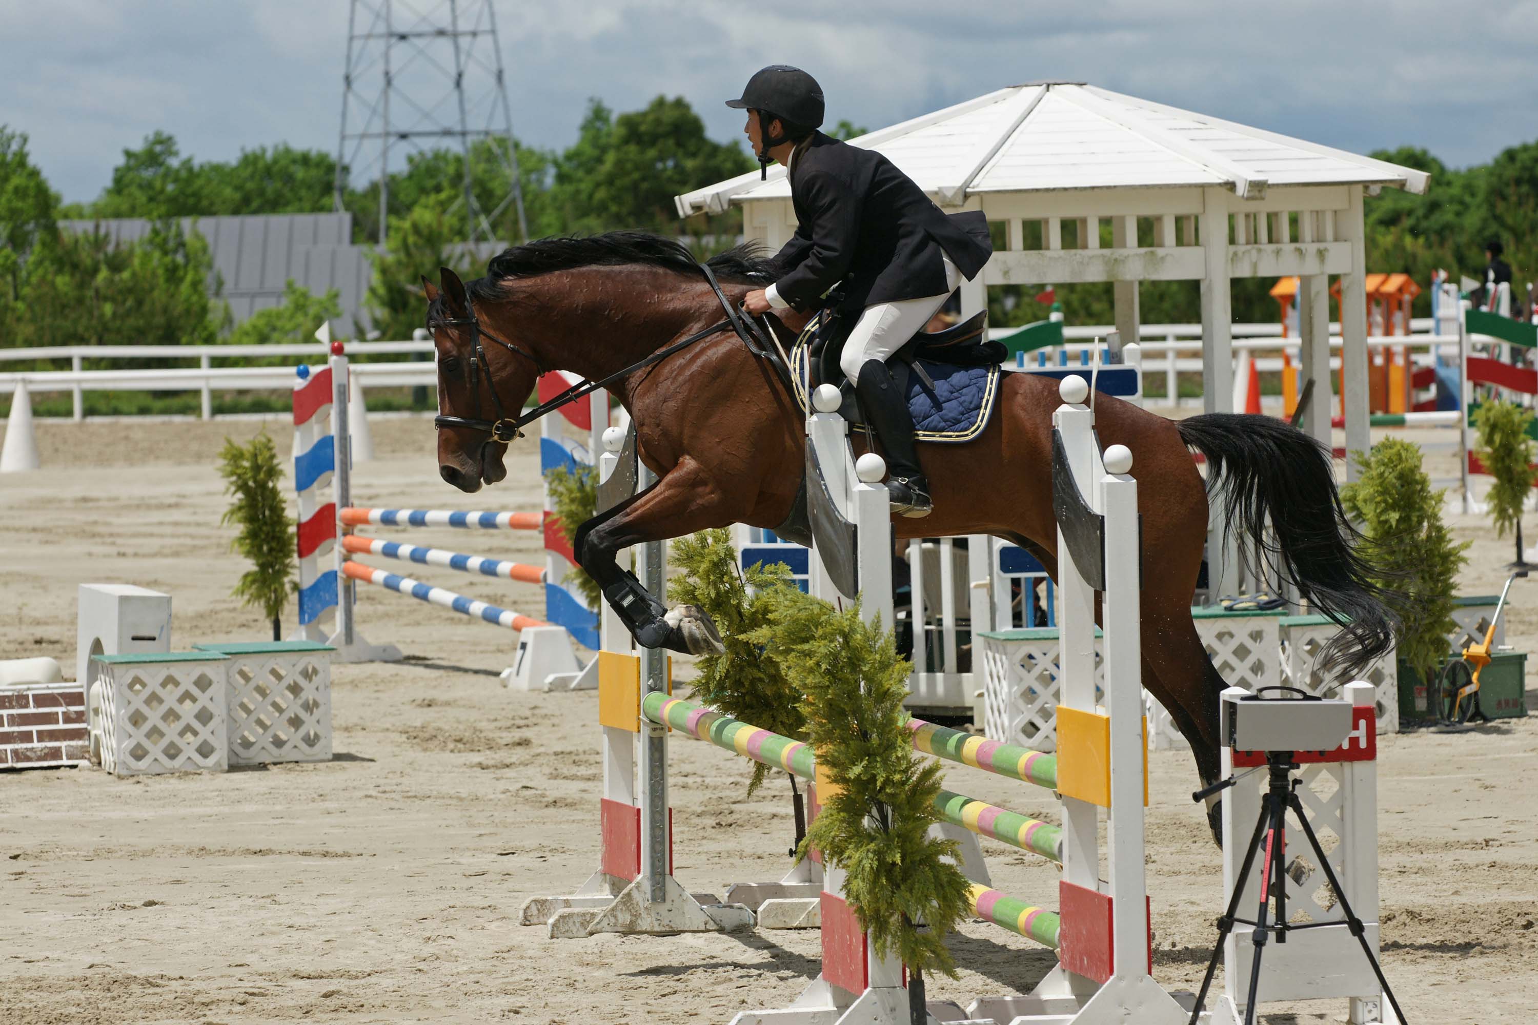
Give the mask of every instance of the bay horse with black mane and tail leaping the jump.
M 754 246 L 707 261 L 641 232 L 549 238 L 494 257 L 469 284 L 449 269 L 423 278 L 426 326 L 438 357 L 438 464 L 477 492 L 508 473 L 506 441 L 488 435 L 486 406 L 506 418 L 535 378 L 561 369 L 592 381 L 620 373 L 687 335 L 711 332 L 611 383 L 629 410 L 654 487 L 583 524 L 577 561 L 647 647 L 707 650 L 698 630 L 641 590 L 615 555 L 635 544 L 735 522 L 778 527 L 804 467 L 804 413 L 769 363 L 720 323 L 775 269 Z M 715 278 L 720 289 L 715 292 Z M 898 538 L 995 535 L 1055 572 L 1052 412 L 1058 383 L 1003 373 L 987 429 L 964 444 L 926 444 L 935 498 L 923 519 L 898 516 Z M 1170 421 L 1107 395 L 1095 404 L 1103 446 L 1134 455 L 1143 518 L 1143 684 L 1190 741 L 1203 784 L 1218 778 L 1218 693 L 1224 681 L 1190 618 L 1207 536 L 1209 490 L 1227 529 L 1312 609 L 1344 630 L 1330 670 L 1357 673 L 1392 644 L 1395 615 L 1370 581 L 1358 535 L 1341 512 L 1330 453 L 1270 418 L 1207 413 Z M 480 424 L 480 427 L 475 427 Z M 1203 481 L 1190 449 L 1206 456 Z M 1269 532 L 1267 532 L 1269 527 Z M 714 633 L 714 627 L 711 630 Z

